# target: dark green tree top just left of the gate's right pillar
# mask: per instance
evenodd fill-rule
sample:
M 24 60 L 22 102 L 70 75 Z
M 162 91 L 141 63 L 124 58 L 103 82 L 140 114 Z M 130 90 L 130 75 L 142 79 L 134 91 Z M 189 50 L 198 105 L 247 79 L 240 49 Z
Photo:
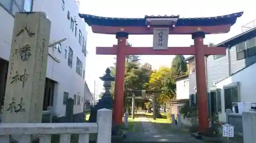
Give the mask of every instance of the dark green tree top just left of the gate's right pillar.
M 185 63 L 185 58 L 183 55 L 175 55 L 172 61 L 172 75 L 174 77 L 179 77 L 186 74 L 187 64 Z

